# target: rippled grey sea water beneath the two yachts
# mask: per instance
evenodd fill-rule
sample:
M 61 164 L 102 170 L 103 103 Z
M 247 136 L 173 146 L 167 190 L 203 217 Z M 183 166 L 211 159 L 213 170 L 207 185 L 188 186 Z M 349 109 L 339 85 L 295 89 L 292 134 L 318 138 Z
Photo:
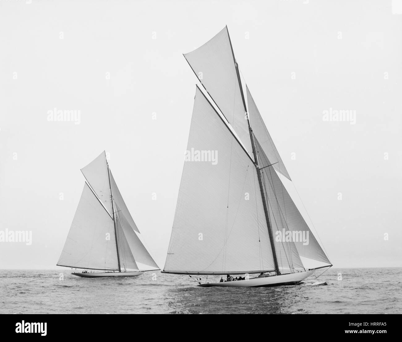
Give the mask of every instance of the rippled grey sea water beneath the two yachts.
M 0 313 L 402 313 L 402 268 L 330 268 L 268 288 L 196 285 L 195 276 L 159 271 L 80 278 L 68 268 L 1 270 Z

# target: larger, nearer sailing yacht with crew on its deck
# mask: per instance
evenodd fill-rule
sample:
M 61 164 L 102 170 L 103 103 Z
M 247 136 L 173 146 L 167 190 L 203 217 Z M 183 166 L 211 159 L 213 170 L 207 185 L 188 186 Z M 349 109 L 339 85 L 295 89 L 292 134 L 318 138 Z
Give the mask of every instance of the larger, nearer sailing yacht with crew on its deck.
M 197 85 L 162 272 L 229 280 L 199 286 L 260 287 L 311 276 L 301 257 L 332 266 L 281 181 L 289 174 L 243 89 L 227 27 L 184 56 L 205 91 Z

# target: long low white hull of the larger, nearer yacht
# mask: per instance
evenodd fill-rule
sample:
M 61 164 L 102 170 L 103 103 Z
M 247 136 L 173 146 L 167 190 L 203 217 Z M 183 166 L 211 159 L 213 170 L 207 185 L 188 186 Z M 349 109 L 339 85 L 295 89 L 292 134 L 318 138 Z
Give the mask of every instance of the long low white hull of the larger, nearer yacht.
M 212 282 L 207 284 L 201 284 L 198 286 L 224 286 L 224 287 L 269 287 L 269 286 L 282 286 L 282 285 L 294 285 L 302 280 L 308 278 L 314 273 L 313 271 L 296 272 L 290 274 L 281 274 L 280 276 L 270 276 L 263 278 L 250 278 L 247 280 L 237 280 L 228 282 Z

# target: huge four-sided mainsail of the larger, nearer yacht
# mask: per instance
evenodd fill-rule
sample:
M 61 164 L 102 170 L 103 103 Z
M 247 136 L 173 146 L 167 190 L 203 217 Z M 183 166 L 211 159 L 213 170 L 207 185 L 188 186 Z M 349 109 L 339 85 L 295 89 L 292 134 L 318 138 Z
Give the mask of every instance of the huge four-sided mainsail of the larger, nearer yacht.
M 164 272 L 274 269 L 256 168 L 197 87 Z

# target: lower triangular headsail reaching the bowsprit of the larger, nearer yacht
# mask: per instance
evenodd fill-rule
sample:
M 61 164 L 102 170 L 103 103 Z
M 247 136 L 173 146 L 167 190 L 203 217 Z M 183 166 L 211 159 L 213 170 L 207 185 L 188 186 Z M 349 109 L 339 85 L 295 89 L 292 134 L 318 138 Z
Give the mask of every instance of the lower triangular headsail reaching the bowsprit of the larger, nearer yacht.
M 286 242 L 286 240 L 289 240 L 291 236 L 292 243 L 289 242 L 289 246 L 292 247 L 292 253 L 288 253 L 288 255 L 292 256 L 294 265 L 297 266 L 300 259 L 294 257 L 295 253 L 293 245 L 295 245 L 298 255 L 330 264 L 326 254 L 314 237 L 303 216 L 301 216 L 299 210 L 289 196 L 289 193 L 283 186 L 281 179 L 275 172 L 275 169 L 273 168 L 274 165 L 271 165 L 273 162 L 269 160 L 267 155 L 265 155 L 263 148 L 256 138 L 255 142 L 258 151 L 258 164 L 260 168 L 263 168 L 261 172 L 263 172 L 264 175 L 265 190 L 269 198 L 270 206 L 274 211 L 271 222 L 273 225 L 273 236 L 276 245 L 282 243 L 284 240 Z M 267 165 L 271 166 L 267 167 Z M 287 231 L 291 234 L 289 235 Z M 281 249 L 279 249 L 279 251 L 281 251 Z

